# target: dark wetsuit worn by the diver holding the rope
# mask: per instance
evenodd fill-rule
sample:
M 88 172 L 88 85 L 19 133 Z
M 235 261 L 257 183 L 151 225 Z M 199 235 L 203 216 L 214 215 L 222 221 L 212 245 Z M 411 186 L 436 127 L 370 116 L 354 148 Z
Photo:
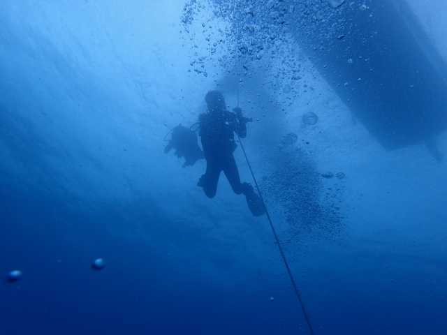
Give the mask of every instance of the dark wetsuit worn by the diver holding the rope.
M 199 122 L 199 135 L 207 161 L 207 170 L 200 177 L 198 185 L 203 187 L 208 198 L 213 198 L 216 195 L 219 176 L 223 172 L 236 194 L 247 193 L 249 184 L 241 183 L 233 156 L 233 151 L 237 147 L 234 133 L 242 138 L 246 137 L 246 122 L 241 122 L 235 113 L 228 110 L 201 114 Z

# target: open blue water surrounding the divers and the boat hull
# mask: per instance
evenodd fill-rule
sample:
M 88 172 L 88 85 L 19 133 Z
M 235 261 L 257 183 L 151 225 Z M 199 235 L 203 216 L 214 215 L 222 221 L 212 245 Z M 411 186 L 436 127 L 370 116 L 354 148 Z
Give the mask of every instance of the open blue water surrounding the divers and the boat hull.
M 2 1 L 0 334 L 309 334 L 265 216 L 163 153 L 216 88 L 254 118 L 244 144 L 315 334 L 445 334 L 446 161 L 383 148 L 286 34 L 246 57 L 213 8 L 250 1 L 188 1 L 192 22 L 185 2 Z M 411 8 L 445 57 L 435 2 Z

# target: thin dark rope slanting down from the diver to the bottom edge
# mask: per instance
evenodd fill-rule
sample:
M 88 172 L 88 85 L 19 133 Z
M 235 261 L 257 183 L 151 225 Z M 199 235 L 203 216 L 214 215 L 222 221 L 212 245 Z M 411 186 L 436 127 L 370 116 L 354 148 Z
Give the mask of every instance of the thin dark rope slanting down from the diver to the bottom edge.
M 302 301 L 300 290 L 298 290 L 298 286 L 296 285 L 295 278 L 293 278 L 291 267 L 288 265 L 286 254 L 284 253 L 284 249 L 282 248 L 281 242 L 279 241 L 279 237 L 278 237 L 277 231 L 274 229 L 272 218 L 270 217 L 270 214 L 268 212 L 267 206 L 265 205 L 264 198 L 263 198 L 263 195 L 261 193 L 261 189 L 258 186 L 258 181 L 256 181 L 256 177 L 254 176 L 253 169 L 251 169 L 251 164 L 250 164 L 249 158 L 247 157 L 247 152 L 245 151 L 244 144 L 242 144 L 242 140 L 240 139 L 239 135 L 237 135 L 237 139 L 239 140 L 240 147 L 242 149 L 242 152 L 244 153 L 245 160 L 247 161 L 247 165 L 249 166 L 251 177 L 253 177 L 253 181 L 254 181 L 254 184 L 256 186 L 256 190 L 258 191 L 259 198 L 261 198 L 261 202 L 263 203 L 263 206 L 264 206 L 264 209 L 265 209 L 265 215 L 267 216 L 268 222 L 270 223 L 270 228 L 272 229 L 272 233 L 273 233 L 274 239 L 277 242 L 279 253 L 281 254 L 281 258 L 282 258 L 282 260 L 284 262 L 284 265 L 286 267 L 288 277 L 291 280 L 293 291 L 295 291 L 295 295 L 296 295 L 296 297 L 298 299 L 298 302 L 300 303 L 301 311 L 302 311 L 302 314 L 305 317 L 305 320 L 306 320 L 306 323 L 307 323 L 307 327 L 309 327 L 310 334 L 314 335 L 315 334 L 314 333 L 314 328 L 312 327 L 312 323 L 310 322 L 309 313 L 307 313 L 307 309 L 305 307 L 305 304 Z

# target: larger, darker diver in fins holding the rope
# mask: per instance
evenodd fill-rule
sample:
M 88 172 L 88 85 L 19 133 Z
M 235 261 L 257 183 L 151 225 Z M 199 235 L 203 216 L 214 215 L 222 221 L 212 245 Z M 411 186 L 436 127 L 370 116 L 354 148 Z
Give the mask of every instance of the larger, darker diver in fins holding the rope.
M 234 193 L 245 195 L 251 214 L 261 216 L 265 213 L 263 202 L 251 184 L 241 183 L 233 156 L 237 147 L 234 133 L 242 138 L 246 137 L 247 123 L 252 120 L 242 116 L 240 107 L 228 112 L 220 91 L 209 91 L 205 101 L 207 112 L 200 114 L 199 136 L 207 168 L 197 185 L 203 188 L 208 198 L 214 198 L 220 174 L 223 172 Z

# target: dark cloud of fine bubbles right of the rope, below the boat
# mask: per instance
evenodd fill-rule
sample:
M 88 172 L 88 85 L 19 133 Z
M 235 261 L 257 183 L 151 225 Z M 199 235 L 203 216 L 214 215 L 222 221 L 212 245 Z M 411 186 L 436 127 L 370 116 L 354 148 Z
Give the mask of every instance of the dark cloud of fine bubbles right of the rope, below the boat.
M 281 207 L 294 234 L 333 237 L 342 232 L 341 181 L 321 178 L 316 163 L 305 149 L 284 136 L 274 154 L 274 172 L 263 177 L 261 188 L 270 204 Z M 284 145 L 288 142 L 288 145 Z M 332 174 L 333 176 L 333 174 Z M 329 183 L 329 184 L 328 184 Z

